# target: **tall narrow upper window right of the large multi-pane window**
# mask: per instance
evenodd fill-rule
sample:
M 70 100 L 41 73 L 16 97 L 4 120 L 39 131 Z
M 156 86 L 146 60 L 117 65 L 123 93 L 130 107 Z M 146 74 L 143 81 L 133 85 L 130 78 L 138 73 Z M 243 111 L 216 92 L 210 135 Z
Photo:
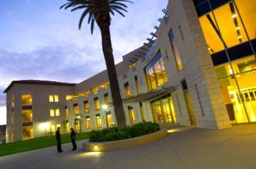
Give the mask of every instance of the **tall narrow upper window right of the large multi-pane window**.
M 175 57 L 177 69 L 178 69 L 178 71 L 181 71 L 182 70 L 181 56 L 178 52 L 178 45 L 176 43 L 176 39 L 174 37 L 174 31 L 172 29 L 169 33 L 169 37 L 170 37 L 170 40 L 171 40 L 171 49 L 174 52 L 174 57 Z

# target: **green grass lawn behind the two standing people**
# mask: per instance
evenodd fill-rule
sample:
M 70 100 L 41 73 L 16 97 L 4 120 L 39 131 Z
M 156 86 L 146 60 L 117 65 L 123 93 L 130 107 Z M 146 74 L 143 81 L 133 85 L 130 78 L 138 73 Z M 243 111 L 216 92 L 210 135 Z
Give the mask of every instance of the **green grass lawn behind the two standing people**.
M 84 140 L 89 139 L 90 132 L 82 132 L 77 133 L 76 140 Z M 61 135 L 61 143 L 69 143 L 70 142 L 70 134 L 62 134 Z M 14 153 L 21 153 L 25 151 L 36 150 L 39 148 L 45 148 L 48 146 L 55 146 L 56 139 L 55 136 L 42 136 L 35 139 L 28 139 L 24 141 L 16 141 L 14 143 L 9 144 L 0 144 L 0 156 L 6 156 Z

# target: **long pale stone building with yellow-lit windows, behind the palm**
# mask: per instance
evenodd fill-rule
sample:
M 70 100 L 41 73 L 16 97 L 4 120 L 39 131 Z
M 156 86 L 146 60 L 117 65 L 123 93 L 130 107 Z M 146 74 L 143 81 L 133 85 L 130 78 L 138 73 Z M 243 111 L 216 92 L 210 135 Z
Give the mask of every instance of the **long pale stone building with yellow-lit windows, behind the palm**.
M 127 125 L 256 122 L 255 9 L 253 0 L 169 0 L 149 42 L 116 66 Z M 5 92 L 8 142 L 117 125 L 107 71 L 78 84 L 13 81 Z

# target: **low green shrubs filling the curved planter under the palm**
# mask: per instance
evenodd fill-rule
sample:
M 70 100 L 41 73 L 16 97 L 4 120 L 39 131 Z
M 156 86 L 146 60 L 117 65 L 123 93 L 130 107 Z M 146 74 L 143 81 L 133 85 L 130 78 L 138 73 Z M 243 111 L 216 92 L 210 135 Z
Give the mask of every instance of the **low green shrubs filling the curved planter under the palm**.
M 134 124 L 132 127 L 125 127 L 118 129 L 112 127 L 109 129 L 92 130 L 90 132 L 91 142 L 104 142 L 104 141 L 115 141 L 120 139 L 129 139 L 136 136 L 143 136 L 156 131 L 159 131 L 159 124 L 153 122 L 146 122 L 144 124 Z

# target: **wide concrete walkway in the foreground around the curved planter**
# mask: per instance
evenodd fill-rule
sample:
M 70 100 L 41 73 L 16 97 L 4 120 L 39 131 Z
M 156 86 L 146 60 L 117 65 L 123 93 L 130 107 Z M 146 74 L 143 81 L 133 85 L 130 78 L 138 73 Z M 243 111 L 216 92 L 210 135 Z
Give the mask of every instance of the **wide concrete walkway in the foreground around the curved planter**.
M 0 158 L 1 169 L 255 169 L 256 124 L 208 130 L 172 127 L 172 133 L 151 144 L 105 153 L 70 151 L 55 147 Z M 82 147 L 82 142 L 78 142 Z M 1 151 L 1 150 L 0 150 Z

